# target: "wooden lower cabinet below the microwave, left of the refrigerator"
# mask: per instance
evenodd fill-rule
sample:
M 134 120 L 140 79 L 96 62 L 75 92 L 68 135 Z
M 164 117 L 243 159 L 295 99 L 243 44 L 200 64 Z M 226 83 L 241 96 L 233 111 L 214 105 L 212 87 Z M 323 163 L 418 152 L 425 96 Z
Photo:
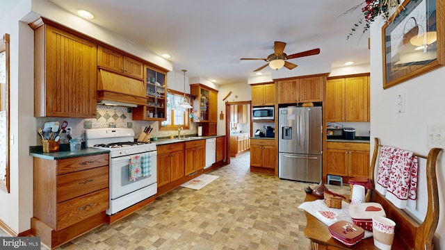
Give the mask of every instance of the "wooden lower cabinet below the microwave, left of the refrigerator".
M 250 140 L 250 171 L 277 174 L 277 147 L 275 140 Z

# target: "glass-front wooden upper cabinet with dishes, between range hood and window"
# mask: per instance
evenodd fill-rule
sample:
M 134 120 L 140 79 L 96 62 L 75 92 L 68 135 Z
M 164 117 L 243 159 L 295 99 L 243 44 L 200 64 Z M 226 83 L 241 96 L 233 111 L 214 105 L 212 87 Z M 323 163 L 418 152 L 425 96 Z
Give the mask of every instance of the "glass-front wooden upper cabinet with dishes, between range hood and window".
M 147 103 L 133 108 L 133 119 L 165 121 L 167 92 L 167 72 L 145 65 L 145 95 Z

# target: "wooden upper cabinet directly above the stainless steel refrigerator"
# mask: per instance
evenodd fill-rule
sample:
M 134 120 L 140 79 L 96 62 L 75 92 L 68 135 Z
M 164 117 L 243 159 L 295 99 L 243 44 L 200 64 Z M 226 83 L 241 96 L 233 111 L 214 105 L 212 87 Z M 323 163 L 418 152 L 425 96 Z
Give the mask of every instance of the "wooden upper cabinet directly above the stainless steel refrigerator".
M 323 101 L 325 76 L 311 76 L 277 81 L 278 103 Z

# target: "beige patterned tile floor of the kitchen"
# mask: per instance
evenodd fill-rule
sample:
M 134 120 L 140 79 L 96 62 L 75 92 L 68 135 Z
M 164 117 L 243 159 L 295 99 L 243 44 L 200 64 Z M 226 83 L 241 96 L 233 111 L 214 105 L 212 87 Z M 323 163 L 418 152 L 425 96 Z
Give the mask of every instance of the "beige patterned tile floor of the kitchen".
M 176 188 L 57 249 L 309 249 L 298 209 L 308 184 L 250 173 L 249 160 L 249 153 L 232 158 L 207 173 L 220 177 L 201 190 Z

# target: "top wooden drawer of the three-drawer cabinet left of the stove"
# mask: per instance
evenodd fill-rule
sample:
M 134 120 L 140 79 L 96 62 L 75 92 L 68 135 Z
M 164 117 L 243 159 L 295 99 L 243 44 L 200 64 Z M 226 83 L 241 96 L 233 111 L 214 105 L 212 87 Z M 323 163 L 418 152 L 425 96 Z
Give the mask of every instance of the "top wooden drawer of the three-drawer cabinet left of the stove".
M 108 162 L 108 153 L 60 159 L 57 161 L 57 174 L 67 174 L 94 167 L 107 166 Z

